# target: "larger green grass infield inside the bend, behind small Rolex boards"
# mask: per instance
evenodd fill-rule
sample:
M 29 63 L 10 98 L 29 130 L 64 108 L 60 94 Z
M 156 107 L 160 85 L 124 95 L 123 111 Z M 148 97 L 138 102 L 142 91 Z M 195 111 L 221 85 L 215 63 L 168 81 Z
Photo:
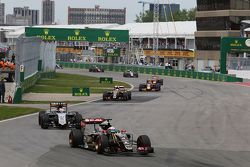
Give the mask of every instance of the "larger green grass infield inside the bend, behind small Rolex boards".
M 53 79 L 41 79 L 37 84 L 25 93 L 72 93 L 72 87 L 89 87 L 91 93 L 103 93 L 112 89 L 115 85 L 123 85 L 129 88 L 130 85 L 114 81 L 113 84 L 99 83 L 99 78 L 76 74 L 56 73 Z

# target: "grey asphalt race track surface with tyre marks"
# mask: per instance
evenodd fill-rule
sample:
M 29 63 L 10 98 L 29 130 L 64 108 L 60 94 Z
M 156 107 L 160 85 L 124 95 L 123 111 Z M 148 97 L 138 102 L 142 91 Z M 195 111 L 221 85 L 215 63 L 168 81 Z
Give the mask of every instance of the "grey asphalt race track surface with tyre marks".
M 42 130 L 37 115 L 0 123 L 0 167 L 249 167 L 250 88 L 235 84 L 164 77 L 161 92 L 138 92 L 138 79 L 112 76 L 135 86 L 128 102 L 96 101 L 71 107 L 84 117 L 112 118 L 113 125 L 147 134 L 155 154 L 105 156 L 73 149 L 69 130 Z

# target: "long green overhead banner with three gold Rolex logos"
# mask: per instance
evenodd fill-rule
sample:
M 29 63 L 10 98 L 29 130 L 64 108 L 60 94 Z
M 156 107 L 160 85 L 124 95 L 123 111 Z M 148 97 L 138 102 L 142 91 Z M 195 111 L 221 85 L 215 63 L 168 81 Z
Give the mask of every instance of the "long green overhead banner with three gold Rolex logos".
M 26 37 L 40 37 L 44 41 L 89 41 L 89 42 L 128 42 L 128 30 L 104 29 L 64 29 L 64 28 L 25 28 Z

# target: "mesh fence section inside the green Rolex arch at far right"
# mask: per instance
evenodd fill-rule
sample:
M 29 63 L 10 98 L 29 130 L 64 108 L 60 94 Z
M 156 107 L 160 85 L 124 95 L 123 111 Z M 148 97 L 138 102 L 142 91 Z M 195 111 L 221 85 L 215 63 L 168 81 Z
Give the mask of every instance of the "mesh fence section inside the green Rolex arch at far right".
M 250 70 L 250 57 L 227 57 L 229 70 Z

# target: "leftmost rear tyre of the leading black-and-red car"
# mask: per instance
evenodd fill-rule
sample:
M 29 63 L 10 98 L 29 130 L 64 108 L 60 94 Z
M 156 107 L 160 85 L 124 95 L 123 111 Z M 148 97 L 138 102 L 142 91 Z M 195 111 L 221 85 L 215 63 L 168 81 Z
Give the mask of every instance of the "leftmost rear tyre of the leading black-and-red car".
M 69 133 L 69 145 L 72 148 L 83 146 L 83 134 L 80 129 L 72 129 Z

